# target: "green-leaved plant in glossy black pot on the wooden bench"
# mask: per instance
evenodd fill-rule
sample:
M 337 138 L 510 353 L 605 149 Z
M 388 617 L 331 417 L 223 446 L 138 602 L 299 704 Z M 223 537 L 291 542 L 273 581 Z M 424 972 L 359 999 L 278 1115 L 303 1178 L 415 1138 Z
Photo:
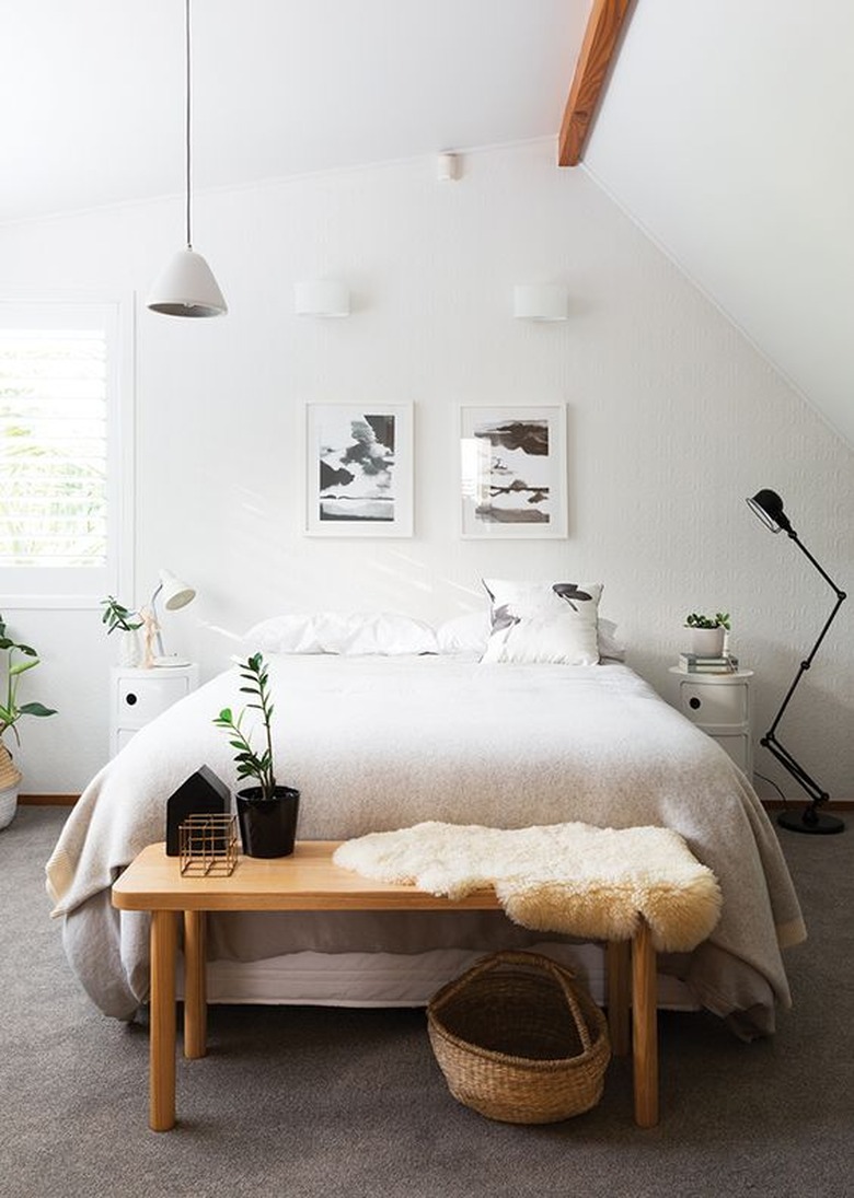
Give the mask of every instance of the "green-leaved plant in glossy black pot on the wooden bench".
M 254 653 L 237 664 L 246 683 L 240 690 L 253 701 L 236 718 L 230 707 L 224 707 L 214 724 L 228 733 L 229 744 L 236 750 L 237 781 L 255 780 L 254 786 L 243 787 L 235 795 L 240 839 L 247 857 L 288 857 L 296 840 L 300 792 L 276 781 L 271 731 L 273 704 L 264 658 Z M 264 748 L 259 752 L 242 728 L 247 708 L 260 712 Z

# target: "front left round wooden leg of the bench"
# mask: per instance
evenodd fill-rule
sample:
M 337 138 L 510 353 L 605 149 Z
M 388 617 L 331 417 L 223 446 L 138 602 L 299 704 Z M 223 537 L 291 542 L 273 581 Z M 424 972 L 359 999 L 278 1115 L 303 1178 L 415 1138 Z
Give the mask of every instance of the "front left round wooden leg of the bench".
M 151 912 L 151 1029 L 149 1126 L 175 1126 L 175 954 L 178 912 Z

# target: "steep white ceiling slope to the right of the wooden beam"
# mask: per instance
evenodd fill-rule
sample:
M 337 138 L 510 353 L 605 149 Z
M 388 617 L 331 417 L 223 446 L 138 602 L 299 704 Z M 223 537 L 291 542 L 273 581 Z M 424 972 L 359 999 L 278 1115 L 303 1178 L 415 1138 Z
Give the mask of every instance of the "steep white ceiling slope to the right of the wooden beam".
M 849 0 L 638 0 L 584 156 L 852 446 L 853 50 Z

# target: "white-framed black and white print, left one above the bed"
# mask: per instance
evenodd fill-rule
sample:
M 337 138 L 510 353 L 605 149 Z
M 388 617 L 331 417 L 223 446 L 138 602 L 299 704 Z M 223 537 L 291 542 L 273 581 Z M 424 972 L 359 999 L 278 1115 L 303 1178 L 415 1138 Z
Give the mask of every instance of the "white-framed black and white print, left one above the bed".
M 306 533 L 411 537 L 411 404 L 308 404 L 306 437 Z

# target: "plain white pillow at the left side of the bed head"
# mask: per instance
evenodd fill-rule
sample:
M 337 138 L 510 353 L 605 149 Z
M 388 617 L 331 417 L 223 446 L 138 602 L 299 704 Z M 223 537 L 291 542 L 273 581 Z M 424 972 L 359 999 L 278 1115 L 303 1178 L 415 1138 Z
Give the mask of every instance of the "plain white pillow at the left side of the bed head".
M 438 653 L 435 633 L 419 619 L 393 612 L 290 612 L 264 619 L 243 641 L 264 653 Z

